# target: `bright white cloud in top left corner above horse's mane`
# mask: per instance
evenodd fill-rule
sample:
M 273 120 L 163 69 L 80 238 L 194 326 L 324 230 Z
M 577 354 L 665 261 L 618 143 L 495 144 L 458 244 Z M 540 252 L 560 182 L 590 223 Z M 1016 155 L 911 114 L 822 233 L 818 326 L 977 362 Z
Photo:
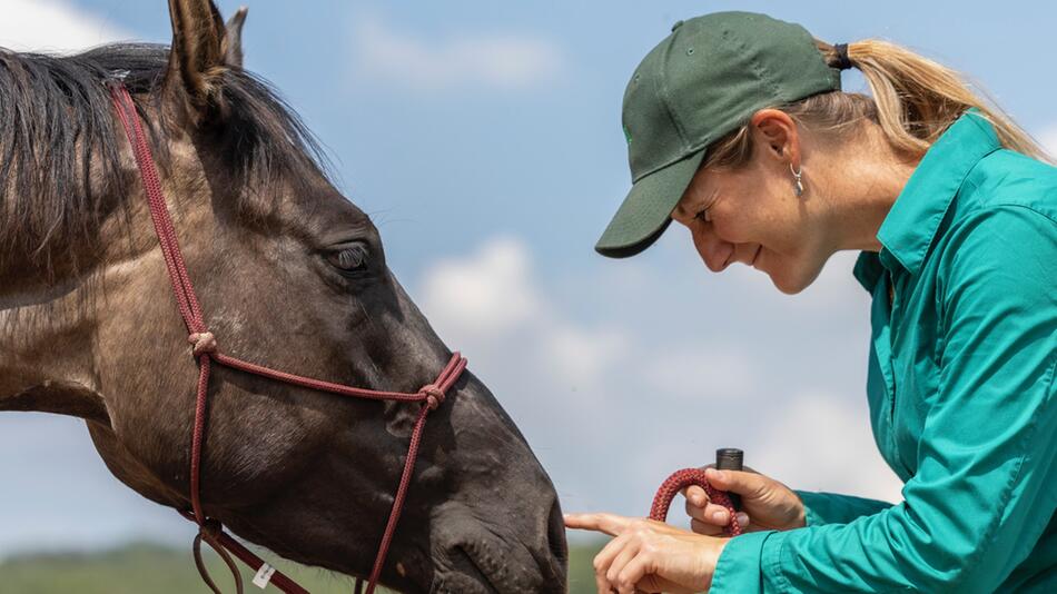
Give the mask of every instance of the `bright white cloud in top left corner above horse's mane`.
M 62 0 L 0 0 L 0 47 L 71 52 L 134 36 Z

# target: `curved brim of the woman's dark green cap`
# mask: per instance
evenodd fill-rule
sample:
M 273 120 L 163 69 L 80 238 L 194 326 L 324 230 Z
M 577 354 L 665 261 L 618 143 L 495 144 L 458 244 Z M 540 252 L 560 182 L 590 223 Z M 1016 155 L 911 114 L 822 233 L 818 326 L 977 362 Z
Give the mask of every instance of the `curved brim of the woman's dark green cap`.
M 594 250 L 610 258 L 634 256 L 654 241 L 669 224 L 672 210 L 701 166 L 704 149 L 642 177 L 628 192 Z

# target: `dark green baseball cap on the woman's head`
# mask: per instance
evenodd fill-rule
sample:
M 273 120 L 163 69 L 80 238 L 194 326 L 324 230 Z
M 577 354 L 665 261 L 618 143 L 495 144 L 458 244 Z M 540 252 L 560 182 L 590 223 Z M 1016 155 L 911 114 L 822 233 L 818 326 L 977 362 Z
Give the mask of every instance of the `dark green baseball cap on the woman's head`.
M 594 249 L 612 258 L 650 247 L 709 145 L 765 107 L 840 90 L 803 27 L 752 12 L 714 12 L 672 27 L 624 91 L 632 188 Z

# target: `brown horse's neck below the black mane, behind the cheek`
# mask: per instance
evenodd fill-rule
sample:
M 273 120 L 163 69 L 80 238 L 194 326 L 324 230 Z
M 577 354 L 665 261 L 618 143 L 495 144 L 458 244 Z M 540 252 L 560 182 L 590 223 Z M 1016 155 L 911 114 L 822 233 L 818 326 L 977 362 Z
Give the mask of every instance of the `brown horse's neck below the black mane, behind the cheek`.
M 0 410 L 109 423 L 97 380 L 96 329 L 100 304 L 120 293 L 108 281 L 110 271 L 134 268 L 154 247 L 141 210 L 111 209 L 90 241 L 75 244 L 75 250 L 50 246 L 56 256 L 47 256 L 48 264 L 24 255 L 0 267 Z M 69 254 L 80 261 L 70 265 Z

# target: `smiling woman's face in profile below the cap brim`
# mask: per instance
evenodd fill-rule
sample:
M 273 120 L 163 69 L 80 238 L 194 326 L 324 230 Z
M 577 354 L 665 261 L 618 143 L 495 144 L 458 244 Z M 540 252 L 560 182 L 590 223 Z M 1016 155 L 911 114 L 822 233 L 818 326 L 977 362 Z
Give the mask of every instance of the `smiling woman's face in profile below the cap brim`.
M 787 155 L 796 138 L 778 133 L 776 139 L 770 132 L 752 130 L 753 155 L 744 166 L 699 169 L 672 218 L 690 229 L 713 273 L 742 263 L 792 295 L 818 277 L 832 251 L 826 248 L 822 200 L 811 191 L 807 167 L 804 194 L 797 197 L 794 191 Z

